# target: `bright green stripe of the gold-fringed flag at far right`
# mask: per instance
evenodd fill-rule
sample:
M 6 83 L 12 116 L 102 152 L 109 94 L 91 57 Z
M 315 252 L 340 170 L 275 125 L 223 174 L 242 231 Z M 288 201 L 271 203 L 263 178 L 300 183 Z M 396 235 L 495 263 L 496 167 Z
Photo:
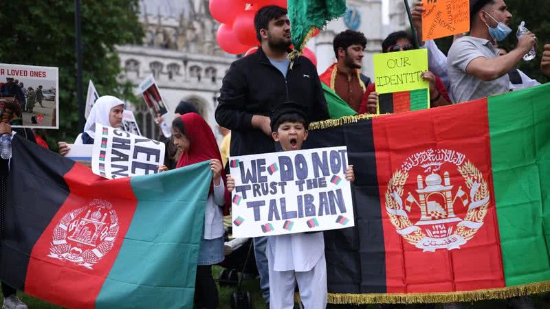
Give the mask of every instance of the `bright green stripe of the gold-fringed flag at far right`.
M 550 278 L 549 104 L 550 84 L 487 99 L 506 286 Z

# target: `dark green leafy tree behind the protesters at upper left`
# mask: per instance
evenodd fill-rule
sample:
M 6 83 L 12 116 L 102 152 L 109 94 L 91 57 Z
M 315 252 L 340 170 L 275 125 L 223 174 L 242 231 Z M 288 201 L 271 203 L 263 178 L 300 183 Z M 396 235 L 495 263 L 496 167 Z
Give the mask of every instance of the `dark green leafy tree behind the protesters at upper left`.
M 4 63 L 59 67 L 57 140 L 78 135 L 74 1 L 3 1 L 0 59 Z M 140 43 L 138 0 L 82 1 L 83 93 L 89 79 L 98 92 L 135 100 L 131 84 L 120 82 L 115 45 Z

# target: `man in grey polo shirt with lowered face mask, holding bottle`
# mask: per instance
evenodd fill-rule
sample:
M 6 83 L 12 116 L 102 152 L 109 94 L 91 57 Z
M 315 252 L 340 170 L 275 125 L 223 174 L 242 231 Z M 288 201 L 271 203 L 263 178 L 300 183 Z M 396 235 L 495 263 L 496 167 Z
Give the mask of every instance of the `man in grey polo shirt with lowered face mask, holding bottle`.
M 536 49 L 536 36 L 527 32 L 516 49 L 498 56 L 493 41 L 511 32 L 511 14 L 503 0 L 470 0 L 470 36 L 452 43 L 447 67 L 454 102 L 466 102 L 510 91 L 508 72 L 525 54 Z

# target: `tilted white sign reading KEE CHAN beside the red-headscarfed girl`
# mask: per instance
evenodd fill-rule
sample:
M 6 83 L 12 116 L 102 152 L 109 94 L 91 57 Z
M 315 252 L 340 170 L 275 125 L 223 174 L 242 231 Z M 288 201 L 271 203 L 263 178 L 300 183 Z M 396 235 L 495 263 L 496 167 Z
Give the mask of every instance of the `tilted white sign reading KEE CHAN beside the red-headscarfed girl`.
M 107 179 L 157 174 L 164 143 L 96 123 L 91 170 Z

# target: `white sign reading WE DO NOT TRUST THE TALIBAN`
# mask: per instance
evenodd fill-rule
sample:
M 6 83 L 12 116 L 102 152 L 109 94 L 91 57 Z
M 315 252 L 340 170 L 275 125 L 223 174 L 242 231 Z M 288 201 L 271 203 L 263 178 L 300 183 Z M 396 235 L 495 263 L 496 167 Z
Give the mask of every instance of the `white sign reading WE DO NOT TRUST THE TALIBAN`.
M 353 227 L 347 148 L 230 158 L 234 237 Z

